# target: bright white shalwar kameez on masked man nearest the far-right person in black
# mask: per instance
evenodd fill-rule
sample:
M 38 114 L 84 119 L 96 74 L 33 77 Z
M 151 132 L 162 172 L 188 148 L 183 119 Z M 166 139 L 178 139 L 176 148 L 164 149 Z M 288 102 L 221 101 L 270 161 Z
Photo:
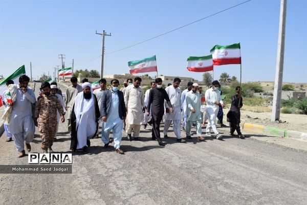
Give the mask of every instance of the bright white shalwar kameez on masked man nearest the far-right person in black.
M 218 112 L 218 105 L 215 105 L 214 102 L 218 101 L 219 103 L 223 104 L 220 91 L 213 90 L 213 88 L 209 88 L 206 90 L 205 99 L 207 103 L 207 117 L 208 117 L 208 124 L 206 128 L 206 133 L 210 133 L 212 129 L 214 134 L 217 135 L 218 131 L 216 130 L 216 116 Z

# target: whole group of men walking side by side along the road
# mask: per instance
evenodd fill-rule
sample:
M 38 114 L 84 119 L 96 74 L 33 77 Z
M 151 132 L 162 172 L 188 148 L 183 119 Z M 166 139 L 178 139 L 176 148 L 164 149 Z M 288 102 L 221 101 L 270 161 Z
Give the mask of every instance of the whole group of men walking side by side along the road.
M 91 146 L 90 139 L 97 135 L 101 124 L 101 140 L 104 148 L 111 143 L 109 134 L 112 131 L 115 151 L 124 154 L 120 148 L 122 130 L 125 129 L 128 140 L 139 140 L 141 125 L 144 125 L 145 129 L 148 124 L 151 125 L 152 140 L 157 140 L 160 146 L 165 146 L 160 136 L 160 124 L 165 115 L 164 138 L 168 138 L 168 130 L 172 124 L 178 142 L 185 142 L 181 136 L 181 128 L 186 132 L 186 139 L 192 138 L 192 126 L 196 128 L 197 140 L 205 140 L 202 136 L 202 87 L 189 82 L 186 90 L 181 92 L 181 79 L 174 78 L 172 85 L 163 89 L 162 79 L 156 78 L 144 94 L 141 82 L 140 77 L 134 80 L 128 79 L 124 89 L 120 91 L 117 79 L 111 80 L 111 89 L 107 89 L 106 80 L 102 78 L 99 83 L 100 88 L 93 91 L 87 80 L 84 80 L 80 86 L 77 78 L 72 77 L 72 85 L 68 87 L 65 103 L 63 103 L 62 96 L 57 94 L 56 85 L 50 85 L 47 82 L 41 84 L 43 94 L 36 101 L 34 92 L 28 88 L 29 77 L 22 75 L 19 77 L 19 85 L 8 85 L 7 92 L 15 93 L 15 97 L 12 98 L 13 103 L 8 104 L 4 100 L 11 109 L 6 127 L 7 136 L 12 135 L 19 157 L 25 156 L 24 142 L 27 151 L 30 152 L 35 125 L 39 128 L 42 138 L 42 151 L 53 152 L 52 145 L 58 122 L 59 120 L 64 122 L 67 118 L 72 151 L 85 152 L 86 148 Z M 225 106 L 218 91 L 219 86 L 218 81 L 214 80 L 212 87 L 205 92 L 208 117 L 206 135 L 211 136 L 212 130 L 217 139 L 221 139 L 222 134 L 216 129 L 216 116 L 219 106 Z M 33 104 L 36 106 L 32 118 Z M 239 112 L 242 105 L 240 88 L 237 87 L 227 117 L 230 118 L 230 134 L 233 135 L 236 130 L 239 137 L 244 137 L 239 128 Z

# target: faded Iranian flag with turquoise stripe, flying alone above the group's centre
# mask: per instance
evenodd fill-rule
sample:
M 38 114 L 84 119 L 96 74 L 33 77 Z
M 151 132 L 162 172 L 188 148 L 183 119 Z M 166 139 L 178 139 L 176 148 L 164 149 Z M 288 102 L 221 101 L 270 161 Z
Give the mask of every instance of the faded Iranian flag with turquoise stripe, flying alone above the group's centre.
M 156 55 L 128 62 L 130 74 L 157 72 L 157 60 Z

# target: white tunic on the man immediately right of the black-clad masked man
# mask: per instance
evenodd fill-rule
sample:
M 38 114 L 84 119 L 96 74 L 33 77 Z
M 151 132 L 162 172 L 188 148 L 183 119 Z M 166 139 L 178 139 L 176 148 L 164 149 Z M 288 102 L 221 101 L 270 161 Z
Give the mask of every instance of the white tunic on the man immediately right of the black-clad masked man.
M 173 86 L 168 86 L 165 88 L 166 93 L 168 94 L 170 103 L 172 105 L 173 112 L 166 113 L 166 120 L 181 120 L 181 90 L 180 88 L 174 88 Z M 169 108 L 166 101 L 164 102 L 165 108 Z

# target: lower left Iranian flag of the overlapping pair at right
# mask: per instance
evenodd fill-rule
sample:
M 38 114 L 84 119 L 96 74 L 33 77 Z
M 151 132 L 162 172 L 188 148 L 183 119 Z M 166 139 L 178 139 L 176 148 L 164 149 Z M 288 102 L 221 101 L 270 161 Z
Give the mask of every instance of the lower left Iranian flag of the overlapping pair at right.
M 190 56 L 187 59 L 187 69 L 192 72 L 207 72 L 213 70 L 212 55 L 207 56 Z

